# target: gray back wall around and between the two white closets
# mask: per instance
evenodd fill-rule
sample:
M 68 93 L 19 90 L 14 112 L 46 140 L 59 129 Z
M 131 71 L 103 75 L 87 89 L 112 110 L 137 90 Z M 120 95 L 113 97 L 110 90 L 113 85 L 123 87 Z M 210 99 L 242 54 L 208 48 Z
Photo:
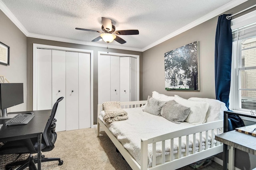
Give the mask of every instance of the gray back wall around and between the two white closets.
M 50 41 L 45 39 L 37 39 L 37 38 L 27 38 L 27 53 L 28 53 L 28 70 L 27 70 L 27 84 L 28 84 L 28 109 L 32 109 L 32 100 L 33 100 L 33 43 L 36 44 L 44 44 L 44 45 L 53 45 L 59 47 L 69 47 L 75 49 L 86 49 L 93 50 L 94 54 L 94 66 L 93 66 L 93 106 L 94 106 L 94 124 L 97 124 L 97 105 L 98 105 L 98 51 L 107 51 L 106 48 L 103 47 L 94 47 L 88 45 L 78 45 L 72 43 L 64 43 L 59 41 Z M 109 53 L 124 53 L 124 54 L 133 54 L 140 55 L 140 70 L 142 70 L 142 52 L 138 51 L 127 51 L 120 49 L 108 49 Z M 142 96 L 142 75 L 140 71 L 140 96 Z M 141 99 L 141 97 L 140 97 Z

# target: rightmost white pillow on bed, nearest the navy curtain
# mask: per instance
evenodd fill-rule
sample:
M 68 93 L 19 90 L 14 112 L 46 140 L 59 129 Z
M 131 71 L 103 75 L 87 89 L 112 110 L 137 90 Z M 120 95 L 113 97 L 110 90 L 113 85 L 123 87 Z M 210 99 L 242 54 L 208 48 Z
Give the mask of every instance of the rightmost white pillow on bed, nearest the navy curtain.
M 220 102 L 219 100 L 216 100 L 216 99 L 189 98 L 188 100 L 207 102 L 210 105 L 206 113 L 206 122 L 222 120 L 224 116 L 224 111 L 228 110 L 225 103 Z

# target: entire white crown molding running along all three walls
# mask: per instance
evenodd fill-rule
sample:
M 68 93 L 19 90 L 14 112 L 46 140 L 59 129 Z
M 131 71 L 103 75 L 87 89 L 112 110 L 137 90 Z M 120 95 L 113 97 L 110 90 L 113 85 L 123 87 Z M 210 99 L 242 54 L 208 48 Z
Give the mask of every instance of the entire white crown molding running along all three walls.
M 230 10 L 244 2 L 246 2 L 248 0 L 234 0 L 232 2 L 230 2 L 229 4 L 222 6 L 212 12 L 210 12 L 209 14 L 199 18 L 196 21 L 193 21 L 191 23 L 189 23 L 188 25 L 170 33 L 169 35 L 159 39 L 158 41 L 142 48 L 132 48 L 132 47 L 124 47 L 124 46 L 120 46 L 120 45 L 107 45 L 107 44 L 101 44 L 101 43 L 92 43 L 92 42 L 87 42 L 87 41 L 78 41 L 78 40 L 72 40 L 72 39 L 64 39 L 64 38 L 59 38 L 59 37 L 51 37 L 51 36 L 45 36 L 45 35 L 39 35 L 39 34 L 34 34 L 34 33 L 29 33 L 25 27 L 20 23 L 20 21 L 18 21 L 18 19 L 12 14 L 12 12 L 10 12 L 10 10 L 6 7 L 6 5 L 2 2 L 2 0 L 0 0 L 0 10 L 2 10 L 2 12 L 4 12 L 4 14 L 22 31 L 22 33 L 24 33 L 27 37 L 32 37 L 32 38 L 40 38 L 40 39 L 47 39 L 47 40 L 52 40 L 52 41 L 61 41 L 61 42 L 66 42 L 66 43 L 75 43 L 75 44 L 81 44 L 81 45 L 90 45 L 90 46 L 96 46 L 96 47 L 108 47 L 108 48 L 112 48 L 112 49 L 122 49 L 122 50 L 130 50 L 130 51 L 139 51 L 139 52 L 143 52 L 146 51 L 172 37 L 175 37 L 176 35 L 179 35 L 180 33 L 183 33 L 207 20 L 210 20 L 211 18 L 214 18 L 215 16 L 218 16 L 224 12 L 226 12 L 227 10 Z

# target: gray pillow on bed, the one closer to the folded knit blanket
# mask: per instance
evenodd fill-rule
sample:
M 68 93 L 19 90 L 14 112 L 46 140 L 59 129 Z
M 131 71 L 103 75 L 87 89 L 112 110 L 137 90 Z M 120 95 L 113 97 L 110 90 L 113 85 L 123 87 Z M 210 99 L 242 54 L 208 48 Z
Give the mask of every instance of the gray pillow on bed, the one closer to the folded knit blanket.
M 144 108 L 143 111 L 146 111 L 152 115 L 158 115 L 160 116 L 160 111 L 162 109 L 162 107 L 164 106 L 164 104 L 166 104 L 167 102 L 162 102 L 160 100 L 156 100 L 154 98 L 152 98 L 151 96 L 148 96 L 148 102 Z

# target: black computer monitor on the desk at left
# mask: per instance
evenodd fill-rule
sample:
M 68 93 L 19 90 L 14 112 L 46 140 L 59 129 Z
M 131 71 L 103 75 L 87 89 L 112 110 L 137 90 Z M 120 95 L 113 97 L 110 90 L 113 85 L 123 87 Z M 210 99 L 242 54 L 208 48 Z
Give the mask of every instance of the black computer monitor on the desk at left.
M 23 83 L 0 83 L 0 109 L 2 117 L 7 117 L 7 108 L 22 104 Z

